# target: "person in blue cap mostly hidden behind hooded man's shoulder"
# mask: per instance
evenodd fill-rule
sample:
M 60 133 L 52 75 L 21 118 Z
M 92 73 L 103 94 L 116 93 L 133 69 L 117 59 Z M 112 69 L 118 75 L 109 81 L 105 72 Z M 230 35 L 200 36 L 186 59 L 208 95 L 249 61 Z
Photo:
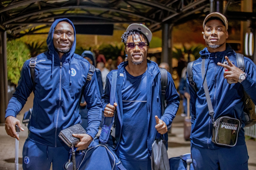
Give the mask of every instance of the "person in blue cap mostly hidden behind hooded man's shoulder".
M 95 56 L 91 51 L 84 51 L 81 56 L 83 58 L 87 59 L 90 64 L 92 64 L 93 66 L 96 67 L 96 65 L 95 65 Z M 102 84 L 102 79 L 101 79 L 101 72 L 98 68 L 95 68 L 95 73 L 96 73 L 96 77 L 97 77 L 97 81 L 98 81 L 100 95 L 102 95 L 103 94 L 103 84 Z M 81 115 L 80 125 L 84 129 L 86 129 L 88 127 L 88 116 L 87 116 L 88 108 L 87 108 L 86 101 L 84 100 L 84 96 L 82 96 L 82 99 L 81 99 L 79 113 Z M 104 119 L 104 114 L 102 114 L 102 117 L 101 117 L 100 127 L 102 127 L 103 119 Z

